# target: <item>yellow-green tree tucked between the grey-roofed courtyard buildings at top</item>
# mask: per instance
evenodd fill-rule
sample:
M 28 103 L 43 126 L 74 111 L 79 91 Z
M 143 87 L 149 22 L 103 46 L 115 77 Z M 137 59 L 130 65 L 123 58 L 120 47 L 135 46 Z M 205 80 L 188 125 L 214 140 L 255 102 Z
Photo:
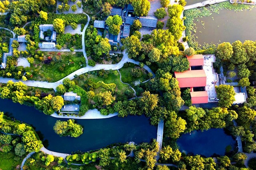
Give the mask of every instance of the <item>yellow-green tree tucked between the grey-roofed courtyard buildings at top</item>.
M 108 31 L 109 33 L 113 34 L 113 35 L 118 35 L 118 33 L 120 32 L 120 25 L 122 25 L 122 18 L 119 15 L 114 15 L 109 16 L 105 23 L 106 25 L 108 25 Z

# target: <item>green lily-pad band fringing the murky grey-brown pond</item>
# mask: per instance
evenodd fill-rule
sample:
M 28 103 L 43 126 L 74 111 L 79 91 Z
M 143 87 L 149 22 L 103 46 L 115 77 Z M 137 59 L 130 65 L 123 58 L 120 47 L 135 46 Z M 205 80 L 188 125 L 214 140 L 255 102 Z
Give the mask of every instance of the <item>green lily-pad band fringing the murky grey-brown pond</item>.
M 188 36 L 188 46 L 193 47 L 195 50 L 207 49 L 208 47 L 216 48 L 215 44 L 205 43 L 204 45 L 200 45 L 196 41 L 196 36 L 194 33 L 196 33 L 197 29 L 196 23 L 200 23 L 199 18 L 210 17 L 213 12 L 219 14 L 220 10 L 223 9 L 239 12 L 244 10 L 252 10 L 253 8 L 255 8 L 254 5 L 231 4 L 229 1 L 226 1 L 218 4 L 212 4 L 208 7 L 204 6 L 183 11 L 183 15 L 186 17 L 184 20 L 184 25 L 186 26 L 186 36 Z M 204 22 L 201 22 L 201 24 L 204 26 Z

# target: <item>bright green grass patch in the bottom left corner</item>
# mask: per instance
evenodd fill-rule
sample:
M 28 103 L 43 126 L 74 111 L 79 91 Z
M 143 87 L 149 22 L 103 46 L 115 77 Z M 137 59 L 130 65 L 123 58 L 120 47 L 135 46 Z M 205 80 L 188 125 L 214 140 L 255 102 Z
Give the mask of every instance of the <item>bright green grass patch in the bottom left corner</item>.
M 0 152 L 0 169 L 2 170 L 16 169 L 17 165 L 21 165 L 23 157 L 18 161 L 14 160 L 14 157 L 15 157 L 14 151 L 10 151 L 8 153 Z

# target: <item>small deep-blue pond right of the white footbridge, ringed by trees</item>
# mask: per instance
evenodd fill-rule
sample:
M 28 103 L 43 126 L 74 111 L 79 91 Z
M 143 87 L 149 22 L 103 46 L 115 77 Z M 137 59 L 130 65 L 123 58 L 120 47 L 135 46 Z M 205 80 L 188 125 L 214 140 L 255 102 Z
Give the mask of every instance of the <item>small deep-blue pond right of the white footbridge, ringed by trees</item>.
M 226 147 L 236 147 L 236 139 L 227 135 L 223 129 L 209 129 L 208 131 L 192 131 L 182 134 L 177 140 L 180 152 L 194 153 L 210 157 L 214 153 L 224 156 Z

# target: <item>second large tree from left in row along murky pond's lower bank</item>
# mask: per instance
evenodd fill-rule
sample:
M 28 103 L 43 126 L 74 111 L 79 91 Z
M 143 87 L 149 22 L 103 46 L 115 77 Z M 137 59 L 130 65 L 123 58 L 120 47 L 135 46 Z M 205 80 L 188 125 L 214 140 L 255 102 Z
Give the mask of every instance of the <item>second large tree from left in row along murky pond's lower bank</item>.
M 249 60 L 249 57 L 245 51 L 243 43 L 239 40 L 232 43 L 233 55 L 230 58 L 230 62 L 233 64 L 245 63 Z

